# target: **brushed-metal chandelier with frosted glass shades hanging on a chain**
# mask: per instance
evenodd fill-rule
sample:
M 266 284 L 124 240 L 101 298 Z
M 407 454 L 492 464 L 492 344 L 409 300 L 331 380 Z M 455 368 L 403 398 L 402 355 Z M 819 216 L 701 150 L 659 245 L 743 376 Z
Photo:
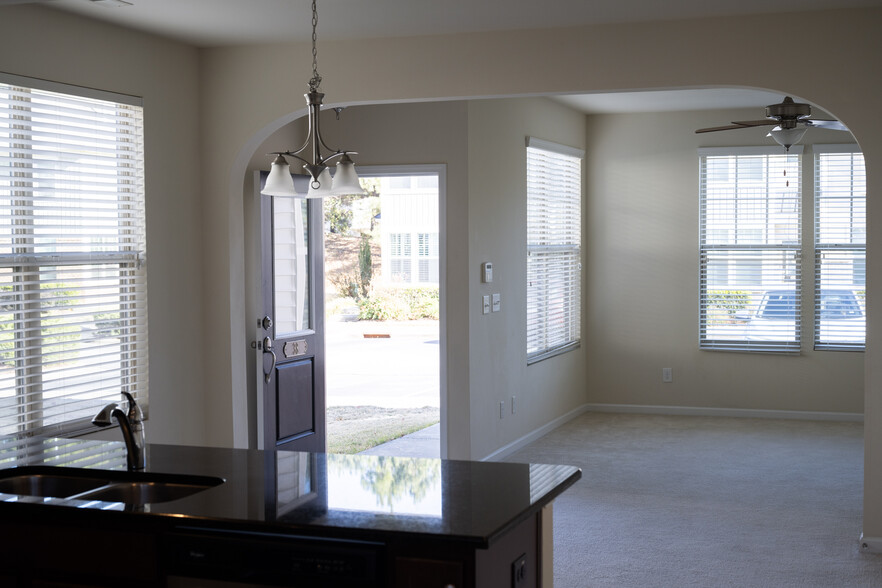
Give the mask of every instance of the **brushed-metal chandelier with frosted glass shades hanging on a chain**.
M 340 194 L 363 194 L 364 190 L 358 182 L 358 174 L 355 172 L 355 164 L 350 154 L 355 151 L 332 149 L 325 144 L 319 130 L 319 114 L 322 109 L 322 99 L 325 95 L 321 91 L 322 77 L 318 73 L 318 60 L 315 48 L 316 26 L 318 25 L 318 12 L 315 7 L 316 0 L 312 0 L 312 78 L 309 80 L 309 92 L 304 94 L 308 107 L 309 130 L 303 146 L 296 151 L 276 151 L 269 177 L 261 194 L 269 196 L 306 196 L 307 198 L 323 198 L 325 196 L 337 196 Z M 340 110 L 335 109 L 339 117 Z M 322 151 L 330 152 L 323 155 Z M 309 174 L 309 191 L 304 195 L 294 188 L 294 178 L 285 157 L 293 157 L 303 162 L 302 168 Z M 339 159 L 338 159 L 339 158 Z M 338 159 L 337 172 L 331 178 L 329 162 Z

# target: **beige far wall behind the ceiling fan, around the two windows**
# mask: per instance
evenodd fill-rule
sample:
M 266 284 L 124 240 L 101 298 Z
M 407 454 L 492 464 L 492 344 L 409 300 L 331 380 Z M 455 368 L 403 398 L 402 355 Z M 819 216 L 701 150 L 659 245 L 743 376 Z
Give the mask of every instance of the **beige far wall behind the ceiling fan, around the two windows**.
M 756 109 L 588 117 L 585 299 L 592 403 L 863 412 L 863 353 L 813 351 L 810 338 L 799 356 L 698 349 L 696 150 L 777 146 L 765 131 L 693 131 L 755 118 Z M 814 263 L 812 142 L 853 139 L 815 130 L 802 141 L 804 276 L 812 275 Z M 673 383 L 662 383 L 662 367 L 673 368 Z

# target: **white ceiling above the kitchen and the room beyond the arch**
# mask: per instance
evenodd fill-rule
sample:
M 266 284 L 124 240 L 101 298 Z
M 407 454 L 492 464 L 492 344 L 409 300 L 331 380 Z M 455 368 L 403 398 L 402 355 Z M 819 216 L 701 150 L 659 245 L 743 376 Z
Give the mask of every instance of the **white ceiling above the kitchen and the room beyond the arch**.
M 42 4 L 197 47 L 311 36 L 309 0 L 0 0 Z M 420 36 L 583 24 L 882 6 L 882 0 L 319 0 L 322 39 Z M 588 113 L 761 107 L 782 96 L 749 89 L 561 96 Z

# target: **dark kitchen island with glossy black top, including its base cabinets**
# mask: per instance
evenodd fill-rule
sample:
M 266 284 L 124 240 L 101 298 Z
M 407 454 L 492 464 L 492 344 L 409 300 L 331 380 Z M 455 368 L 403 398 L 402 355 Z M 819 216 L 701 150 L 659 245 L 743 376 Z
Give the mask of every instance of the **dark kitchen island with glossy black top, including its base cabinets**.
M 0 439 L 0 585 L 533 588 L 550 561 L 551 502 L 581 477 L 572 466 L 168 445 L 149 445 L 147 460 L 128 474 L 122 443 Z M 59 491 L 45 483 L 57 473 L 106 480 Z M 11 485 L 34 488 L 35 476 L 36 490 Z M 150 476 L 186 492 L 207 482 L 114 493 Z

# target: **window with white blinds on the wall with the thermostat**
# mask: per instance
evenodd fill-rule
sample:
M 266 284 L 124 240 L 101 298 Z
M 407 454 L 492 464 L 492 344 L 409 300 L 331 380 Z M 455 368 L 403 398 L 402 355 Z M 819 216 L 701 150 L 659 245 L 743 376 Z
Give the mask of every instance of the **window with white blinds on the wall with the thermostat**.
M 527 362 L 579 345 L 582 159 L 527 138 Z

